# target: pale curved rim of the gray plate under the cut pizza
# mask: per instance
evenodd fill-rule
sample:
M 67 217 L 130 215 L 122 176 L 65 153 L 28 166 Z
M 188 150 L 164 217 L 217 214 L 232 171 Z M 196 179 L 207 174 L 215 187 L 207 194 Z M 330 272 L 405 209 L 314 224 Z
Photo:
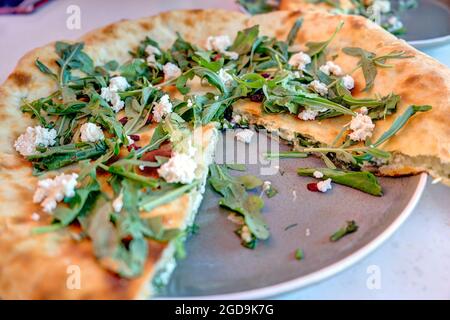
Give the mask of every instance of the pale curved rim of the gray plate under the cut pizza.
M 402 212 L 397 216 L 397 218 L 378 236 L 376 236 L 372 241 L 370 241 L 365 246 L 359 248 L 355 252 L 351 253 L 347 257 L 327 266 L 317 271 L 314 271 L 308 275 L 301 276 L 289 281 L 284 281 L 275 285 L 266 286 L 263 288 L 225 293 L 225 294 L 214 294 L 206 296 L 184 296 L 184 297 L 160 297 L 158 299 L 170 299 L 170 300 L 251 300 L 251 299 L 263 299 L 270 298 L 280 294 L 288 293 L 300 288 L 310 286 L 312 284 L 318 283 L 325 279 L 334 276 L 341 271 L 349 268 L 358 261 L 362 260 L 364 257 L 368 256 L 375 249 L 377 249 L 381 244 L 383 244 L 387 239 L 389 239 L 395 231 L 406 221 L 410 216 L 417 203 L 419 202 L 423 191 L 426 186 L 428 175 L 426 173 L 421 173 L 419 181 L 417 183 L 416 189 L 412 197 L 409 199 L 407 205 L 404 207 Z

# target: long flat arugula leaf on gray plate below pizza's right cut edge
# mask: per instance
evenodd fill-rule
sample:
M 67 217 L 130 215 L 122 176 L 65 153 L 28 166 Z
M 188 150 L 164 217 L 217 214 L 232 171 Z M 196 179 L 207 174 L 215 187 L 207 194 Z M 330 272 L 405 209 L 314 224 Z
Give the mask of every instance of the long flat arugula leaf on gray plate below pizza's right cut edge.
M 358 189 L 374 196 L 383 195 L 382 188 L 378 183 L 377 178 L 367 171 L 353 172 L 329 168 L 297 169 L 297 173 L 300 176 L 313 177 L 315 171 L 322 172 L 324 179 L 330 178 L 335 183 Z

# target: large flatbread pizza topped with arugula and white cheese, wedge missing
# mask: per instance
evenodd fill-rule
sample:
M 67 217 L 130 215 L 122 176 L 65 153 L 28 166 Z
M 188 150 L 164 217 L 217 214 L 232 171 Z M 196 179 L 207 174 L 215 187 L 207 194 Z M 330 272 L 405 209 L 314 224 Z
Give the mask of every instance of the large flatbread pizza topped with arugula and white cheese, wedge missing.
M 242 243 L 267 239 L 246 193 L 267 186 L 212 164 L 219 129 L 262 126 L 328 166 L 299 174 L 376 196 L 373 174 L 450 184 L 449 105 L 445 66 L 357 16 L 173 11 L 35 49 L 0 87 L 0 297 L 154 295 L 209 167 Z

